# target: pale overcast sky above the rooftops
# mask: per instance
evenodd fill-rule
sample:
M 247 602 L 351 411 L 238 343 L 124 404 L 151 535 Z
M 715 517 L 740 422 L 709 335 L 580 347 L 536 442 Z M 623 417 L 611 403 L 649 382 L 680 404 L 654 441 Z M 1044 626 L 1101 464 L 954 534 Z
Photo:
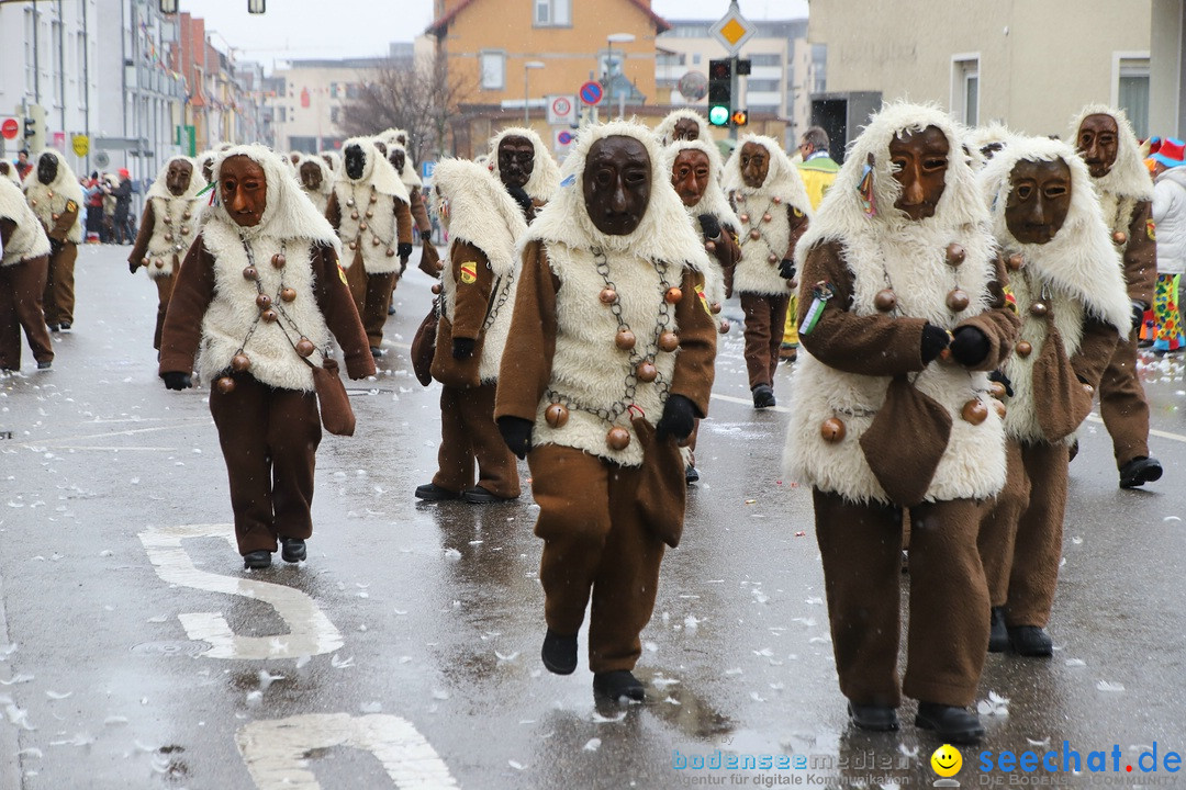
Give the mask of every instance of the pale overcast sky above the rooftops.
M 525 0 L 521 0 L 525 1 Z M 605 0 L 574 0 L 605 2 Z M 387 54 L 390 41 L 410 41 L 432 23 L 432 0 L 267 0 L 268 12 L 247 13 L 247 0 L 180 0 L 181 11 L 206 19 L 211 38 L 235 57 L 272 69 L 288 58 L 346 58 Z M 651 0 L 661 17 L 720 19 L 727 0 Z M 377 8 L 385 11 L 376 12 Z M 740 0 L 748 19 L 795 19 L 806 0 Z

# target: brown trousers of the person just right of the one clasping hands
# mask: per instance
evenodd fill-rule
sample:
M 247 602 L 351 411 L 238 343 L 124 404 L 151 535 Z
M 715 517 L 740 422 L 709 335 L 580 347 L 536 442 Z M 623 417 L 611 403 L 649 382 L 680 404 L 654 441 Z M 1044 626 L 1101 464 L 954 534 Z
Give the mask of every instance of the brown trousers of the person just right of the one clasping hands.
M 1010 625 L 1046 627 L 1063 558 L 1067 447 L 1009 439 L 1009 475 L 980 528 L 980 557 L 994 606 Z

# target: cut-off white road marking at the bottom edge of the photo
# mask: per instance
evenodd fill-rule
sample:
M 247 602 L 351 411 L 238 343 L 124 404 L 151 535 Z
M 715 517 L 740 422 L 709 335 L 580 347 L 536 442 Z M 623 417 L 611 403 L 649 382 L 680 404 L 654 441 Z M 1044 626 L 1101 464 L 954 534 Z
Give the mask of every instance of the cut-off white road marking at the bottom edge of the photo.
M 394 715 L 311 713 L 253 721 L 235 733 L 235 744 L 260 790 L 320 790 L 307 754 L 334 746 L 375 754 L 396 788 L 460 786 L 412 722 Z

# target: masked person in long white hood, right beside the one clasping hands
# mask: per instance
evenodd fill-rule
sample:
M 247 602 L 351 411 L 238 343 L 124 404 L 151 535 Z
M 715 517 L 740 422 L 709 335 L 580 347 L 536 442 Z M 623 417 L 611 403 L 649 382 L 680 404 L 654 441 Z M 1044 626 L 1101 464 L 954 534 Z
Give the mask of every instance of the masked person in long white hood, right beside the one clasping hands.
M 1131 306 L 1091 176 L 1070 146 L 1015 137 L 980 178 L 1021 316 L 1021 340 L 1002 366 L 1008 477 L 978 539 L 993 605 L 988 649 L 1048 656 L 1069 443 L 1128 336 Z

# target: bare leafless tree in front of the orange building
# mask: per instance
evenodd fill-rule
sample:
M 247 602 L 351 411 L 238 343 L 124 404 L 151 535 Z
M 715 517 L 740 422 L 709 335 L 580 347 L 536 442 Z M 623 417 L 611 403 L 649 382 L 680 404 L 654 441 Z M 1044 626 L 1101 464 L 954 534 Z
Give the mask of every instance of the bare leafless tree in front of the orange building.
M 470 94 L 468 82 L 449 76 L 444 54 L 433 59 L 388 60 L 363 83 L 358 98 L 343 107 L 342 128 L 372 135 L 393 127 L 408 130 L 413 161 L 451 150 L 451 117 Z

